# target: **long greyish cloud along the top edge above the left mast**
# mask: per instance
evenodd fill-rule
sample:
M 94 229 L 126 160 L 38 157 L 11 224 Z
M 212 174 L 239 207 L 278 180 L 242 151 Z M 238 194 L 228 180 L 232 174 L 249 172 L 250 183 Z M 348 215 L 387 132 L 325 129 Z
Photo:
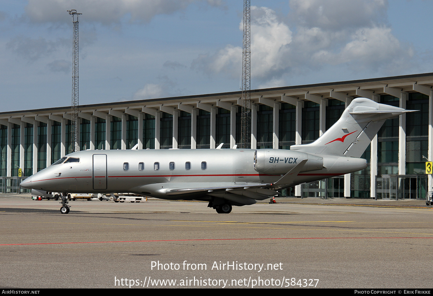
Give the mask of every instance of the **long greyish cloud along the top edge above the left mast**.
M 87 22 L 104 25 L 120 23 L 123 18 L 149 23 L 159 14 L 171 14 L 184 10 L 200 0 L 29 0 L 26 13 L 36 23 L 70 22 L 66 10 L 82 13 Z M 223 6 L 219 0 L 207 0 L 211 6 Z

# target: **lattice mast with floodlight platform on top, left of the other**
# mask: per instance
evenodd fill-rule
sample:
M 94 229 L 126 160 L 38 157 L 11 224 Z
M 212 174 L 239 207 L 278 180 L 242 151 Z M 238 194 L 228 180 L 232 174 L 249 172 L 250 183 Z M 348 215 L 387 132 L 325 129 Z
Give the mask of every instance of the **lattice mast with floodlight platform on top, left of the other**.
M 78 17 L 82 13 L 77 10 L 67 10 L 72 16 L 74 36 L 72 42 L 72 125 L 71 125 L 71 152 L 79 151 L 78 147 Z

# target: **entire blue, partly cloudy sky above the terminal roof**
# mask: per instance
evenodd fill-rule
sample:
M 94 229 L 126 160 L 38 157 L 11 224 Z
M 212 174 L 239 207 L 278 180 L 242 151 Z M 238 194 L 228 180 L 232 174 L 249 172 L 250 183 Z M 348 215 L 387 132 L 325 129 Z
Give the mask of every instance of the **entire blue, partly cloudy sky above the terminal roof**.
M 432 0 L 251 0 L 251 88 L 433 72 Z M 0 112 L 239 90 L 242 0 L 2 0 Z

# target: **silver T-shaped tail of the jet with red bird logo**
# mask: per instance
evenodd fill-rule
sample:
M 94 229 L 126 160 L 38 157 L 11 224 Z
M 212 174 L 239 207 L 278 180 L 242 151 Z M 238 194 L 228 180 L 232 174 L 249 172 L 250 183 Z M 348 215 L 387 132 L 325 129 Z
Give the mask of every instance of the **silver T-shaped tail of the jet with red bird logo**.
M 359 158 L 386 119 L 413 111 L 417 110 L 405 110 L 366 98 L 356 98 L 320 138 L 310 144 L 292 145 L 290 150 Z

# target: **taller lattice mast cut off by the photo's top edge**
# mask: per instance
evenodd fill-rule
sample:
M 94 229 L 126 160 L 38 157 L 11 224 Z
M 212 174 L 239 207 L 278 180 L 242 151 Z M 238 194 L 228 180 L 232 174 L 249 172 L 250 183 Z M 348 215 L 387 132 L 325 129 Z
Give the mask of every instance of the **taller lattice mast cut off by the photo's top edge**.
M 251 112 L 250 112 L 250 0 L 244 0 L 243 15 L 243 42 L 242 42 L 242 122 L 241 122 L 241 147 L 250 146 Z

